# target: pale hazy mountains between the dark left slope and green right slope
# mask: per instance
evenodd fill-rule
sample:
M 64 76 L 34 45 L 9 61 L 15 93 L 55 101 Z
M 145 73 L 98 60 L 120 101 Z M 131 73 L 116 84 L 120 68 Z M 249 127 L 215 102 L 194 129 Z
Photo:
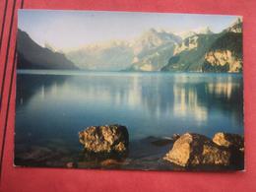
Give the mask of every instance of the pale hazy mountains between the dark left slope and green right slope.
M 96 71 L 158 71 L 181 38 L 150 29 L 132 41 L 114 40 L 66 52 L 80 68 Z

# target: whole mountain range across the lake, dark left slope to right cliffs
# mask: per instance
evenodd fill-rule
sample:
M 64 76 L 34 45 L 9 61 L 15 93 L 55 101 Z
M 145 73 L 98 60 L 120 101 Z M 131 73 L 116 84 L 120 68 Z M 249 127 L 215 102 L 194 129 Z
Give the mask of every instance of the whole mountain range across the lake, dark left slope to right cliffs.
M 36 44 L 28 33 L 18 32 L 18 67 L 82 69 L 90 71 L 242 71 L 242 21 L 223 32 L 209 28 L 191 32 L 150 29 L 133 40 L 111 40 L 57 51 Z

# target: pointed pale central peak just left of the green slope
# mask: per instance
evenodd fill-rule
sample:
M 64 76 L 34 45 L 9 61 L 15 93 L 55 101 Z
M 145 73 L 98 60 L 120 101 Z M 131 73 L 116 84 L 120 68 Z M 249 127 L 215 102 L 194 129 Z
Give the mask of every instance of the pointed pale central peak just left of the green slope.
M 181 37 L 154 29 L 144 32 L 132 43 L 134 59 L 130 71 L 160 71 L 170 56 L 175 44 L 181 42 Z

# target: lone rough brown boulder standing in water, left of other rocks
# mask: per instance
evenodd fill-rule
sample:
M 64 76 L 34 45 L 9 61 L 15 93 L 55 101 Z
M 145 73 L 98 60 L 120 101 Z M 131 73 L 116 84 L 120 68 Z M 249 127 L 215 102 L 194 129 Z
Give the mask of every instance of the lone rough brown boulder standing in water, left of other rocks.
M 79 132 L 79 141 L 88 152 L 125 153 L 129 135 L 122 125 L 91 126 Z

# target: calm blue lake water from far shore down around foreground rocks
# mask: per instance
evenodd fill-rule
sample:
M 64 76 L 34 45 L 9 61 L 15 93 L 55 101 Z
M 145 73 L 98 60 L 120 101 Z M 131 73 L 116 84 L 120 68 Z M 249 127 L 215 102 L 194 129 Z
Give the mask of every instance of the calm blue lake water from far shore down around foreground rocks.
M 86 161 L 78 132 L 92 125 L 127 126 L 127 160 L 137 160 L 132 168 L 148 169 L 158 169 L 160 160 L 151 160 L 169 149 L 149 147 L 149 138 L 243 134 L 241 74 L 18 71 L 16 108 L 17 165 Z

